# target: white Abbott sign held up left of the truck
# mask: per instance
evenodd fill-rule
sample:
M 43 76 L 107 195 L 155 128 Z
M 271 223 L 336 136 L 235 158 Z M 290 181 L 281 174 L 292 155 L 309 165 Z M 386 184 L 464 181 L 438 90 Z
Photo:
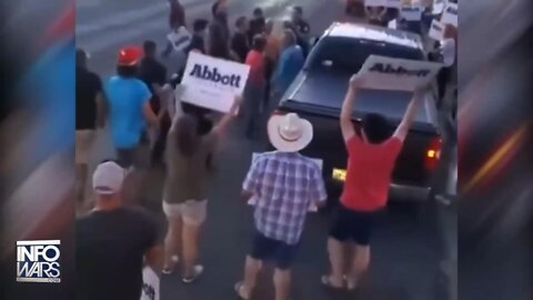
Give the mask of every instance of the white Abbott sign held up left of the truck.
M 247 86 L 250 66 L 191 52 L 181 84 L 181 101 L 229 112 L 235 94 Z

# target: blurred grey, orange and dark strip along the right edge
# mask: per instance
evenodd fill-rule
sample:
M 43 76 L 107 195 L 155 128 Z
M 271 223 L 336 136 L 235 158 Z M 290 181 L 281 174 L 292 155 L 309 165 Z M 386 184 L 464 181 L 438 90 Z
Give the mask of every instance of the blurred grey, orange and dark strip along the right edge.
M 460 299 L 533 298 L 532 13 L 460 1 Z

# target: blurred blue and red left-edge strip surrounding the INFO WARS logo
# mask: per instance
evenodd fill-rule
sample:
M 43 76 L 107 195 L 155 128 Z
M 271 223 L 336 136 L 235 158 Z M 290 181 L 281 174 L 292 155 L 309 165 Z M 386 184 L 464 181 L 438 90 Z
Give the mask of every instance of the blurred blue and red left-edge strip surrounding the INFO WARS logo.
M 0 299 L 73 299 L 74 6 L 2 1 Z M 61 239 L 59 284 L 17 284 L 16 241 Z

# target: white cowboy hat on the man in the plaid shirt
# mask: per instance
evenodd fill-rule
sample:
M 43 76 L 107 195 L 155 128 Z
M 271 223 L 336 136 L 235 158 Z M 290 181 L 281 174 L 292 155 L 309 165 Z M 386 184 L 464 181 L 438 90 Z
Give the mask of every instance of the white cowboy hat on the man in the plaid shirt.
M 269 139 L 282 152 L 298 152 L 313 139 L 313 126 L 296 113 L 272 116 L 268 124 Z

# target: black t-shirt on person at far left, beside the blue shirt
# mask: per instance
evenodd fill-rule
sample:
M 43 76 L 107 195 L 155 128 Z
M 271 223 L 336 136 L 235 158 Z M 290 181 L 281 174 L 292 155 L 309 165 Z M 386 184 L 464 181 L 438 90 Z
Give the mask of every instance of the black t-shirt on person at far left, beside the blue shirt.
M 97 94 L 102 80 L 95 73 L 76 68 L 76 130 L 97 128 Z

